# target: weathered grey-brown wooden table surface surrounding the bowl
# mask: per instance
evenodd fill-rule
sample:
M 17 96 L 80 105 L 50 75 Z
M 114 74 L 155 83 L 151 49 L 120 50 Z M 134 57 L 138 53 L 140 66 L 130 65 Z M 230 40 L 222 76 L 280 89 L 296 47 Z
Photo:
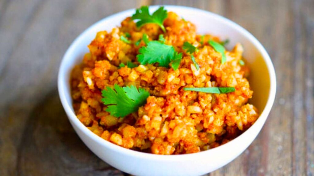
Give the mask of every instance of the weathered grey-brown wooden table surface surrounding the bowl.
M 314 175 L 314 1 L 0 0 L 0 175 L 127 175 L 73 131 L 57 92 L 69 44 L 113 13 L 141 5 L 223 15 L 268 50 L 277 95 L 266 125 L 233 162 L 208 175 Z

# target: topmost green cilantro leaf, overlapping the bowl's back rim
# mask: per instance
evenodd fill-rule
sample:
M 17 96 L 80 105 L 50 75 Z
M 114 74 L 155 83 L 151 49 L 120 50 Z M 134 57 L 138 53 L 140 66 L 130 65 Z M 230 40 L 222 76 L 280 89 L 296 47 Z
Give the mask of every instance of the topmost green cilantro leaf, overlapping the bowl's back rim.
M 157 9 L 152 15 L 149 14 L 148 6 L 142 6 L 136 9 L 136 12 L 132 15 L 132 20 L 138 20 L 136 22 L 137 27 L 141 27 L 144 24 L 155 23 L 165 32 L 166 29 L 163 25 L 168 13 L 164 7 Z

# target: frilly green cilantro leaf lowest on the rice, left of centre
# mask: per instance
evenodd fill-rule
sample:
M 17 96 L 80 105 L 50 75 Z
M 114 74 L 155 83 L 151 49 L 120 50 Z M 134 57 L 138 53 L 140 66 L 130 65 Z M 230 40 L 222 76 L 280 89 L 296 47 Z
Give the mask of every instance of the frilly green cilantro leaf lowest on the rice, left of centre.
M 106 111 L 111 116 L 125 117 L 128 114 L 138 111 L 138 107 L 146 103 L 149 92 L 143 88 L 136 88 L 134 85 L 121 87 L 117 84 L 114 89 L 106 87 L 101 91 L 101 101 L 108 105 Z

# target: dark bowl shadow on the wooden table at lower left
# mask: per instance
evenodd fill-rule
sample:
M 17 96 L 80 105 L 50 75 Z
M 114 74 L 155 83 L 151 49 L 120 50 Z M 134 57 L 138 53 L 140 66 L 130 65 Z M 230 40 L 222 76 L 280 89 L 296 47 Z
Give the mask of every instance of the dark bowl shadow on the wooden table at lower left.
M 79 139 L 57 89 L 31 111 L 18 149 L 19 175 L 127 175 L 95 156 Z

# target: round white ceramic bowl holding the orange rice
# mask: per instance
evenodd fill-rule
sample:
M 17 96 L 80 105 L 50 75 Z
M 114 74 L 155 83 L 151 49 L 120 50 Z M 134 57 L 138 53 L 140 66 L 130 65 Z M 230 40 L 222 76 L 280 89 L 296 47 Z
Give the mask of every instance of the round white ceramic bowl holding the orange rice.
M 155 11 L 159 6 L 151 6 Z M 251 103 L 257 106 L 260 117 L 246 132 L 236 139 L 207 151 L 182 155 L 155 155 L 122 148 L 108 142 L 89 131 L 75 116 L 70 95 L 70 72 L 74 65 L 82 62 L 87 45 L 95 38 L 98 31 L 111 31 L 121 21 L 135 13 L 135 9 L 126 10 L 100 20 L 71 44 L 63 56 L 58 75 L 58 91 L 62 105 L 78 136 L 99 158 L 111 166 L 133 175 L 202 175 L 214 171 L 239 156 L 255 139 L 263 127 L 273 106 L 276 92 L 276 76 L 271 59 L 257 39 L 238 24 L 196 8 L 165 6 L 197 27 L 198 33 L 208 33 L 221 39 L 230 39 L 227 45 L 231 49 L 236 42 L 244 47 L 246 64 L 251 68 L 250 85 L 253 98 Z M 254 25 L 254 24 L 252 24 Z

